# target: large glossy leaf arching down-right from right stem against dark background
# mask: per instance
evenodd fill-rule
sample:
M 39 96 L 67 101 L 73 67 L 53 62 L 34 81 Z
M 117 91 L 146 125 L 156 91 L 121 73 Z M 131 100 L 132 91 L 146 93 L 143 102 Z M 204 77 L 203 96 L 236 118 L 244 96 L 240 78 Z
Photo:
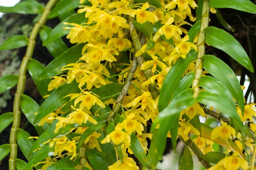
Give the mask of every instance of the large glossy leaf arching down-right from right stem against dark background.
M 249 71 L 254 72 L 252 62 L 243 46 L 232 35 L 214 26 L 206 27 L 204 33 L 207 44 L 224 51 Z

